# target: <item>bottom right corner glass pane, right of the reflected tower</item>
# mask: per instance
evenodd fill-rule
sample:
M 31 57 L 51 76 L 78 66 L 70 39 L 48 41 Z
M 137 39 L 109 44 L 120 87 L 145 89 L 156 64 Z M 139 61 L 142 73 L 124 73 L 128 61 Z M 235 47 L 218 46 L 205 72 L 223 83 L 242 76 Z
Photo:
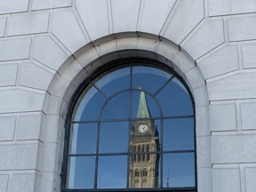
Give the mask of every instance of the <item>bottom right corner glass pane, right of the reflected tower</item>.
M 164 154 L 164 188 L 195 187 L 194 153 Z

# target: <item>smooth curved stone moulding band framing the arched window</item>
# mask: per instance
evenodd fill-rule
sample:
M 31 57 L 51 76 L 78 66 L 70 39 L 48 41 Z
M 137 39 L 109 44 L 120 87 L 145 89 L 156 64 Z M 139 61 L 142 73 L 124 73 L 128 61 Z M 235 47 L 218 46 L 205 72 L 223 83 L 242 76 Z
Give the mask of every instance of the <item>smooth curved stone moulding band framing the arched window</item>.
M 150 38 L 148 37 L 150 36 Z M 95 45 L 98 44 L 98 45 Z M 52 188 L 60 187 L 60 174 L 62 165 L 63 143 L 65 135 L 65 118 L 68 102 L 72 99 L 76 88 L 86 76 L 111 60 L 129 57 L 148 58 L 157 60 L 173 68 L 188 84 L 196 103 L 196 140 L 197 140 L 197 171 L 207 172 L 207 177 L 212 175 L 211 162 L 206 162 L 202 154 L 210 156 L 210 142 L 207 142 L 210 134 L 208 111 L 208 94 L 204 76 L 196 66 L 196 62 L 184 52 L 179 45 L 159 36 L 138 36 L 137 33 L 118 34 L 118 38 L 109 40 L 108 36 L 102 37 L 91 44 L 86 44 L 77 52 L 74 52 L 58 69 L 48 87 L 48 94 L 44 100 L 46 106 L 46 125 L 54 124 L 55 130 L 47 129 L 45 135 L 54 132 L 52 140 L 44 141 L 43 148 L 43 175 L 49 175 L 53 180 L 42 177 L 41 185 L 51 185 Z M 204 114 L 204 115 L 203 115 Z M 202 142 L 207 142 L 203 146 Z M 49 156 L 52 166 L 49 167 Z M 206 171 L 205 168 L 207 168 Z M 202 173 L 203 174 L 203 173 Z M 48 177 L 49 177 L 48 176 Z M 200 175 L 199 175 L 200 176 Z M 53 181 L 53 182 L 52 182 Z M 202 182 L 204 185 L 204 183 Z M 200 188 L 198 180 L 198 188 Z M 211 190 L 211 186 L 208 186 Z

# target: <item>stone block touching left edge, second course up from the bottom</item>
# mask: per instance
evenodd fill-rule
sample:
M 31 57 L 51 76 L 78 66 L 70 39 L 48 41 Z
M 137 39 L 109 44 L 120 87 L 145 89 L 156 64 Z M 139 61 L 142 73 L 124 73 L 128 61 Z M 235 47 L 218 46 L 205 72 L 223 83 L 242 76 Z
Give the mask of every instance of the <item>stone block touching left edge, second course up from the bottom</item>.
M 1 145 L 1 170 L 36 169 L 38 143 Z

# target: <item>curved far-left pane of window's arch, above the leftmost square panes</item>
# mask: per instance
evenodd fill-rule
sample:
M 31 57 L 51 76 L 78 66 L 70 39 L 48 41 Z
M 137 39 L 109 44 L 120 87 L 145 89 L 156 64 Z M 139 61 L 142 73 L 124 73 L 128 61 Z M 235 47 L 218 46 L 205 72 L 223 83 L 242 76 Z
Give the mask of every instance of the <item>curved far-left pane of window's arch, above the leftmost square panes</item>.
M 79 100 L 76 102 L 74 109 L 73 121 L 92 121 L 100 117 L 100 109 L 106 99 L 94 87 L 87 87 Z

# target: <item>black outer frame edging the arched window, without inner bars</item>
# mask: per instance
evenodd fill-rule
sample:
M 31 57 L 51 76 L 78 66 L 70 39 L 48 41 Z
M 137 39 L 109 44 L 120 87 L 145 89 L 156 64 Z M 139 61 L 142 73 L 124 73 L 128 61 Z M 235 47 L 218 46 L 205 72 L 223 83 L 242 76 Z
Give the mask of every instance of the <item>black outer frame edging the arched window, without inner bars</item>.
M 171 73 L 173 76 L 177 77 L 180 82 L 186 87 L 187 92 L 189 94 L 190 100 L 192 102 L 193 105 L 193 116 L 189 116 L 192 117 L 194 119 L 194 150 L 193 153 L 195 154 L 195 188 L 108 188 L 108 189 L 101 189 L 101 188 L 90 188 L 90 189 L 71 189 L 71 188 L 65 188 L 66 186 L 66 180 L 67 180 L 67 170 L 68 170 L 68 147 L 69 147 L 69 136 L 70 136 L 70 127 L 71 127 L 71 118 L 72 118 L 72 114 L 73 111 L 75 109 L 76 106 L 76 101 L 80 98 L 81 94 L 84 92 L 84 89 L 90 84 L 90 82 L 92 80 L 94 80 L 95 78 L 97 78 L 98 76 L 108 72 L 108 70 L 115 68 L 124 68 L 126 66 L 136 66 L 133 65 L 134 63 L 139 63 L 140 66 L 146 66 L 146 67 L 153 67 L 153 68 L 158 68 L 158 69 L 162 69 L 165 71 L 169 71 L 169 73 Z M 154 118 L 152 118 L 154 119 Z M 62 162 L 62 169 L 61 169 L 61 173 L 60 173 L 60 178 L 61 178 L 61 182 L 60 182 L 60 191 L 61 192 L 85 192 L 85 191 L 172 191 L 172 192 L 196 192 L 197 191 L 197 167 L 196 167 L 196 113 L 195 113 L 195 101 L 193 99 L 193 95 L 188 87 L 188 84 L 186 84 L 186 82 L 183 80 L 183 78 L 176 72 L 173 70 L 173 68 L 170 68 L 169 66 L 167 66 L 166 64 L 163 64 L 162 62 L 159 62 L 157 60 L 150 60 L 150 59 L 145 59 L 145 58 L 129 58 L 129 59 L 122 59 L 122 60 L 114 60 L 109 62 L 108 64 L 97 68 L 96 70 L 94 70 L 89 76 L 87 76 L 83 83 L 80 84 L 78 86 L 78 88 L 76 89 L 76 92 L 74 93 L 74 95 L 72 96 L 70 102 L 68 103 L 68 114 L 66 116 L 66 121 L 65 121 L 65 138 L 64 138 L 64 149 L 63 149 L 63 162 Z M 147 147 L 145 146 L 145 149 Z M 192 151 L 192 150 L 191 150 Z M 144 154 L 144 153 L 143 153 Z M 147 158 L 147 156 L 149 156 L 150 152 L 147 152 L 144 154 L 146 155 L 145 158 Z M 159 152 L 159 154 L 164 154 L 163 151 Z M 135 155 L 137 156 L 137 155 Z M 140 155 L 139 155 L 140 156 Z M 137 157 L 138 160 L 138 157 Z M 163 161 L 163 160 L 162 160 Z

